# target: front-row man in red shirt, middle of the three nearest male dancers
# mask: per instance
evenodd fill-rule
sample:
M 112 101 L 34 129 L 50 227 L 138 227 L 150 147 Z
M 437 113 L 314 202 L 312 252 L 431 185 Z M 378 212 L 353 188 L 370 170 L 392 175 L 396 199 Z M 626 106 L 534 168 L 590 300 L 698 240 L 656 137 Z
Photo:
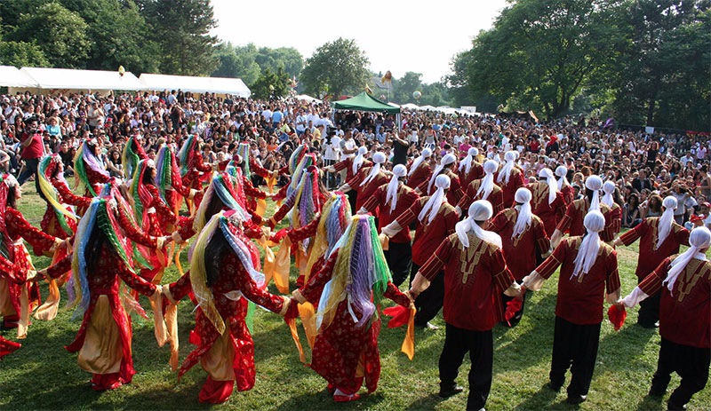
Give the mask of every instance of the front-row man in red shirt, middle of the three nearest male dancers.
M 546 261 L 523 278 L 522 287 L 538 291 L 561 266 L 548 387 L 560 391 L 565 372 L 571 368 L 570 404 L 587 399 L 600 343 L 603 300 L 614 303 L 619 298 L 617 254 L 599 234 L 605 217 L 594 209 L 587 213 L 584 224 L 587 234 L 563 240 Z

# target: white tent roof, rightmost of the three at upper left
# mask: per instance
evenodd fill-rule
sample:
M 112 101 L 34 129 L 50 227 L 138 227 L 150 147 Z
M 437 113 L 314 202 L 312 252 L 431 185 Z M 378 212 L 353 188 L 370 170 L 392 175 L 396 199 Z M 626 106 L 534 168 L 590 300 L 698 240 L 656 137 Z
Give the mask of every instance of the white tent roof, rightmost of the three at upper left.
M 189 75 L 140 75 L 144 90 L 155 91 L 191 91 L 196 93 L 213 92 L 232 94 L 238 97 L 250 97 L 252 91 L 238 78 L 193 77 Z

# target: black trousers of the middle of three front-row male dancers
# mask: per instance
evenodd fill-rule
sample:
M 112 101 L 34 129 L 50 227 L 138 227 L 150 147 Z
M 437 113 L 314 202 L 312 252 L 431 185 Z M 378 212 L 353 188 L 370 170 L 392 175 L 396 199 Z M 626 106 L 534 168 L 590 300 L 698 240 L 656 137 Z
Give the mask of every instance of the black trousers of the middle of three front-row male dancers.
M 551 384 L 562 386 L 565 372 L 571 368 L 568 395 L 587 395 L 595 371 L 599 343 L 600 323 L 581 326 L 556 316 L 550 366 Z

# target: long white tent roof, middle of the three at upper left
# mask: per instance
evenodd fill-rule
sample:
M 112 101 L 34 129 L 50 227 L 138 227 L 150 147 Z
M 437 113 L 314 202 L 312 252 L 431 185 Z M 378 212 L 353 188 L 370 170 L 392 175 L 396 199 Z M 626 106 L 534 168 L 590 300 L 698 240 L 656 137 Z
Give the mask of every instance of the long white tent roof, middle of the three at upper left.
M 35 80 L 35 87 L 59 91 L 138 91 L 145 87 L 131 72 L 72 70 L 69 68 L 22 67 L 20 72 Z

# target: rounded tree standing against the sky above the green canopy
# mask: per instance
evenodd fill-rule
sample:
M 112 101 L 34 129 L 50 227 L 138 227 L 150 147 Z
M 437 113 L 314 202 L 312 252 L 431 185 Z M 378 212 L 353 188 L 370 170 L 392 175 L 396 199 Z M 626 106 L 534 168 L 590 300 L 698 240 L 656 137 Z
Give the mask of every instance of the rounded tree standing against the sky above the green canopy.
M 325 43 L 306 60 L 300 81 L 306 92 L 323 97 L 345 91 L 362 91 L 368 81 L 370 61 L 355 40 L 339 38 Z

